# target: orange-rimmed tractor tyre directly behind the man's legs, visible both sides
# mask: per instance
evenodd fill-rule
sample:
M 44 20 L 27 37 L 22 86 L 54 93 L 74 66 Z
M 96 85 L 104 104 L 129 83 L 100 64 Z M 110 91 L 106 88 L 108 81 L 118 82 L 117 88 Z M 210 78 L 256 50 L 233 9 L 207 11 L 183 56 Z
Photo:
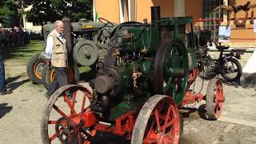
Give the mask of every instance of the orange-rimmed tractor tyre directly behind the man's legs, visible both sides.
M 69 84 L 76 84 L 79 81 L 80 73 L 78 66 L 74 64 L 73 68 L 67 67 L 66 74 Z M 54 81 L 55 72 L 53 66 L 45 66 L 42 70 L 42 84 L 45 86 L 46 90 L 49 89 L 51 82 Z

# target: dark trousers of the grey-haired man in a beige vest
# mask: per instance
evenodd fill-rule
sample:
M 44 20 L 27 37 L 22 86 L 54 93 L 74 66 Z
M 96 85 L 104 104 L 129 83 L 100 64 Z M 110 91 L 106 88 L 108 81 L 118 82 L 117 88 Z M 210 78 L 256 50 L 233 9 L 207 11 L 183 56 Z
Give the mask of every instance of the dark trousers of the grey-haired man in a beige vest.
M 66 68 L 63 67 L 54 67 L 55 78 L 54 81 L 51 82 L 49 90 L 47 91 L 47 95 L 54 94 L 54 91 L 58 89 L 58 87 L 62 87 L 68 84 L 67 82 L 67 74 Z

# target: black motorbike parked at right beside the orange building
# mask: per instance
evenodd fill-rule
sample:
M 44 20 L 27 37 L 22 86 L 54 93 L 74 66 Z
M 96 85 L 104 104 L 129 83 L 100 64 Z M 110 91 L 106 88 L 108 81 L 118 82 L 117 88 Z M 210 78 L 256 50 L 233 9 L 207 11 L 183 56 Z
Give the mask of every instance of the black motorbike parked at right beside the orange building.
M 215 44 L 216 45 L 216 44 Z M 206 78 L 213 78 L 218 74 L 222 75 L 222 78 L 226 82 L 238 82 L 242 75 L 242 66 L 238 59 L 241 59 L 241 55 L 234 52 L 224 54 L 224 50 L 228 50 L 230 46 L 216 46 L 219 50 L 218 58 L 212 58 L 208 53 L 208 47 L 200 47 L 199 54 L 199 67 L 204 73 Z

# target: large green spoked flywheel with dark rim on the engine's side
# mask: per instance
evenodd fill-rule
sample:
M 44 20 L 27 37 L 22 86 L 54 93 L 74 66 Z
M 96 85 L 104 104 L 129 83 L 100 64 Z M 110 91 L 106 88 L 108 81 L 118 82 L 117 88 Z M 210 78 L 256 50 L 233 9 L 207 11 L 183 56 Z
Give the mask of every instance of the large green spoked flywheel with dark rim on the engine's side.
M 179 106 L 186 92 L 188 75 L 188 55 L 182 40 L 162 39 L 154 58 L 155 93 L 171 95 Z

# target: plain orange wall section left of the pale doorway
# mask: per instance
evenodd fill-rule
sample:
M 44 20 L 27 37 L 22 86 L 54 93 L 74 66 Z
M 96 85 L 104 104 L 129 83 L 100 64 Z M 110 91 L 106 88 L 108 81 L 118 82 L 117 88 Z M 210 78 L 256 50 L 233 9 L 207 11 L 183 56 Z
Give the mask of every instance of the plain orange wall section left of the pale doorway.
M 118 0 L 95 0 L 95 9 L 98 18 L 105 18 L 110 22 L 119 23 L 119 1 Z

